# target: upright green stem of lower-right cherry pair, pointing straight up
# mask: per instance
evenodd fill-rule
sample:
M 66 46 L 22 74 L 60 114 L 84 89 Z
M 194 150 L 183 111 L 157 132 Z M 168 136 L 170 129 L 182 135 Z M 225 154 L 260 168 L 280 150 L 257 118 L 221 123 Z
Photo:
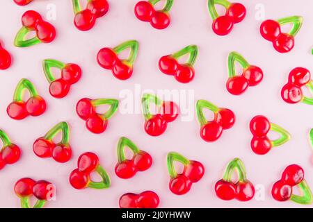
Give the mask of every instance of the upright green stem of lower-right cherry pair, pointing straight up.
M 228 165 L 225 170 L 223 180 L 227 182 L 232 181 L 232 173 L 236 169 L 236 172 L 238 173 L 238 180 L 240 182 L 245 182 L 247 180 L 246 178 L 246 168 L 243 164 L 243 162 L 239 158 L 234 158 Z

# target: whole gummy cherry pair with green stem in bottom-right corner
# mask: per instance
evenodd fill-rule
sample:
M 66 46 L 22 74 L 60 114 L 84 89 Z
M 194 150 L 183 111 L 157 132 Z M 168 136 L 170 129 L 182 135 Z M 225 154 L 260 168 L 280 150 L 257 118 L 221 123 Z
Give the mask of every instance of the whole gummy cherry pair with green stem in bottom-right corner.
M 292 188 L 298 186 L 302 196 L 292 194 Z M 304 179 L 304 171 L 297 164 L 286 167 L 282 172 L 282 178 L 272 187 L 272 196 L 278 201 L 292 200 L 295 203 L 310 205 L 313 203 L 312 191 Z

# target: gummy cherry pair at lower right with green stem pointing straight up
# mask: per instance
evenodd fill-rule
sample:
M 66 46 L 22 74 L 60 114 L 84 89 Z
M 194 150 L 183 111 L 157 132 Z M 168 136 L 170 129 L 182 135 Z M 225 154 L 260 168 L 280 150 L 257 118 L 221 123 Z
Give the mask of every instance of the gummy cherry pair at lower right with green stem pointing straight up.
M 238 181 L 232 182 L 232 173 L 236 169 Z M 216 196 L 222 200 L 236 198 L 240 201 L 248 201 L 255 196 L 255 187 L 247 180 L 246 169 L 239 158 L 234 158 L 228 165 L 223 179 L 215 184 Z

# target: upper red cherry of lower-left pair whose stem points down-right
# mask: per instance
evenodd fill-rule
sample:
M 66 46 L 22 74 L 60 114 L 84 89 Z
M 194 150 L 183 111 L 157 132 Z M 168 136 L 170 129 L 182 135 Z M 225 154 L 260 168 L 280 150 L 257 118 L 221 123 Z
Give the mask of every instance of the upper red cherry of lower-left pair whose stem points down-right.
M 87 152 L 79 156 L 78 169 L 84 173 L 91 173 L 99 164 L 99 158 L 95 153 Z

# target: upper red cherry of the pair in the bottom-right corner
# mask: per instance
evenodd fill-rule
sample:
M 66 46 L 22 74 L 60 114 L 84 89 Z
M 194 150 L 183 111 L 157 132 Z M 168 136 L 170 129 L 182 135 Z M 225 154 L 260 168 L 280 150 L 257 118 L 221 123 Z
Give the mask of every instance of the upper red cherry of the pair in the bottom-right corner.
M 304 178 L 304 171 L 302 167 L 297 164 L 289 165 L 282 173 L 282 181 L 287 185 L 295 186 L 302 182 Z

